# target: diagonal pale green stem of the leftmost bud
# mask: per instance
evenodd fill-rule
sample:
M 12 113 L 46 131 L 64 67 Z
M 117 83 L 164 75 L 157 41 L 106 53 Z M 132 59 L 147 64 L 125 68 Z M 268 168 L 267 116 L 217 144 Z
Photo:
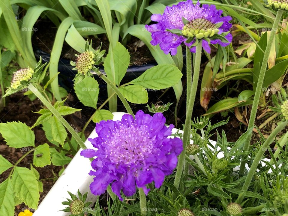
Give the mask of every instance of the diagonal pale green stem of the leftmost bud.
M 67 128 L 67 130 L 70 132 L 70 134 L 74 137 L 78 145 L 82 149 L 87 149 L 84 142 L 81 140 L 81 138 L 78 136 L 76 131 L 69 125 L 69 123 L 61 116 L 60 113 L 58 113 L 57 110 L 49 103 L 49 101 L 46 100 L 46 98 L 35 88 L 31 83 L 29 84 L 28 88 L 36 95 L 37 98 L 53 113 L 53 115 Z

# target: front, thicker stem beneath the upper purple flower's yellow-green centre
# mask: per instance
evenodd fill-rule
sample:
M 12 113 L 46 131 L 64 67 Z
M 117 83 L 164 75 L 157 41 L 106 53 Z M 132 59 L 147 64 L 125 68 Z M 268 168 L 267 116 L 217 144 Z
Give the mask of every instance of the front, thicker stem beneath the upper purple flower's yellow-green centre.
M 201 54 L 202 54 L 202 41 L 199 41 L 199 44 L 196 46 L 196 55 L 195 55 L 195 63 L 194 63 L 194 73 L 193 73 L 193 81 L 192 81 L 192 88 L 191 93 L 189 96 L 189 104 L 187 104 L 187 113 L 186 113 L 186 119 L 185 119 L 185 125 L 184 125 L 184 133 L 183 133 L 183 151 L 181 152 L 179 156 L 179 161 L 177 165 L 176 170 L 176 176 L 174 180 L 174 186 L 178 189 L 182 171 L 183 171 L 183 165 L 185 160 L 185 154 L 186 154 L 186 147 L 188 140 L 190 140 L 191 137 L 191 118 L 192 118 L 192 112 L 193 112 L 193 106 L 194 101 L 196 97 L 196 91 L 199 81 L 199 72 L 200 72 L 200 63 L 201 63 Z

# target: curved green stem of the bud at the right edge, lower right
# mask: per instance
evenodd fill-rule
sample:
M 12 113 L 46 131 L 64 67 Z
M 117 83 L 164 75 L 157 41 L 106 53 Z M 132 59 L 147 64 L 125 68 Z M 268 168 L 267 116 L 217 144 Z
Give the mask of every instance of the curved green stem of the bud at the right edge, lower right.
M 269 145 L 273 142 L 276 135 L 286 127 L 288 121 L 280 122 L 277 127 L 272 131 L 272 133 L 269 135 L 267 140 L 263 143 L 263 145 L 260 147 L 259 151 L 257 152 L 257 155 L 255 156 L 253 163 L 251 164 L 250 170 L 246 176 L 245 182 L 243 184 L 242 190 L 245 191 L 248 189 L 251 180 L 255 174 L 255 171 L 257 169 L 257 166 L 259 165 L 259 162 L 261 161 L 266 149 L 269 147 Z M 243 195 L 239 195 L 236 202 L 241 203 L 243 200 Z

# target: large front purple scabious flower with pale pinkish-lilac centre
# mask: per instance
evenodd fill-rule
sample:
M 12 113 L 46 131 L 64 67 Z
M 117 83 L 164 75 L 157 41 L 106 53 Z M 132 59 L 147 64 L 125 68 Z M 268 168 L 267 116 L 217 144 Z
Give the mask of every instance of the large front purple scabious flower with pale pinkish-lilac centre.
M 121 121 L 101 121 L 96 124 L 98 137 L 89 139 L 96 149 L 85 149 L 85 158 L 97 157 L 91 163 L 89 175 L 95 176 L 90 190 L 95 195 L 104 193 L 112 183 L 112 190 L 121 197 L 132 196 L 136 186 L 149 192 L 146 184 L 155 182 L 160 187 L 170 175 L 182 152 L 182 140 L 167 138 L 173 125 L 167 127 L 162 113 L 153 116 L 142 110 L 133 116 L 125 114 Z

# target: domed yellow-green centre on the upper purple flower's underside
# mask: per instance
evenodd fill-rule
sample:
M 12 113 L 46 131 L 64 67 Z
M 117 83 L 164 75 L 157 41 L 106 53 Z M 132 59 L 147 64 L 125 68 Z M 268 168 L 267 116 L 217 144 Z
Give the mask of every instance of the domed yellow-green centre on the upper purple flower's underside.
M 197 39 L 212 37 L 217 32 L 219 32 L 219 29 L 216 28 L 216 25 L 203 18 L 190 21 L 182 30 L 184 36 L 189 38 L 196 37 Z

